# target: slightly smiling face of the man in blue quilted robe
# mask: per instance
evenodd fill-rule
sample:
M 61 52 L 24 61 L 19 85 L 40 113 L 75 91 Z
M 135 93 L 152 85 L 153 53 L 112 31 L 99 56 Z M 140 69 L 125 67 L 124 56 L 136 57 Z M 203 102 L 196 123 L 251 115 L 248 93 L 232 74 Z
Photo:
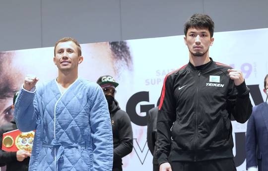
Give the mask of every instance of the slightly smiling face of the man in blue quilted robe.
M 83 61 L 83 57 L 78 56 L 78 48 L 72 41 L 61 42 L 57 45 L 54 63 L 61 71 L 69 71 L 78 68 L 78 64 Z

